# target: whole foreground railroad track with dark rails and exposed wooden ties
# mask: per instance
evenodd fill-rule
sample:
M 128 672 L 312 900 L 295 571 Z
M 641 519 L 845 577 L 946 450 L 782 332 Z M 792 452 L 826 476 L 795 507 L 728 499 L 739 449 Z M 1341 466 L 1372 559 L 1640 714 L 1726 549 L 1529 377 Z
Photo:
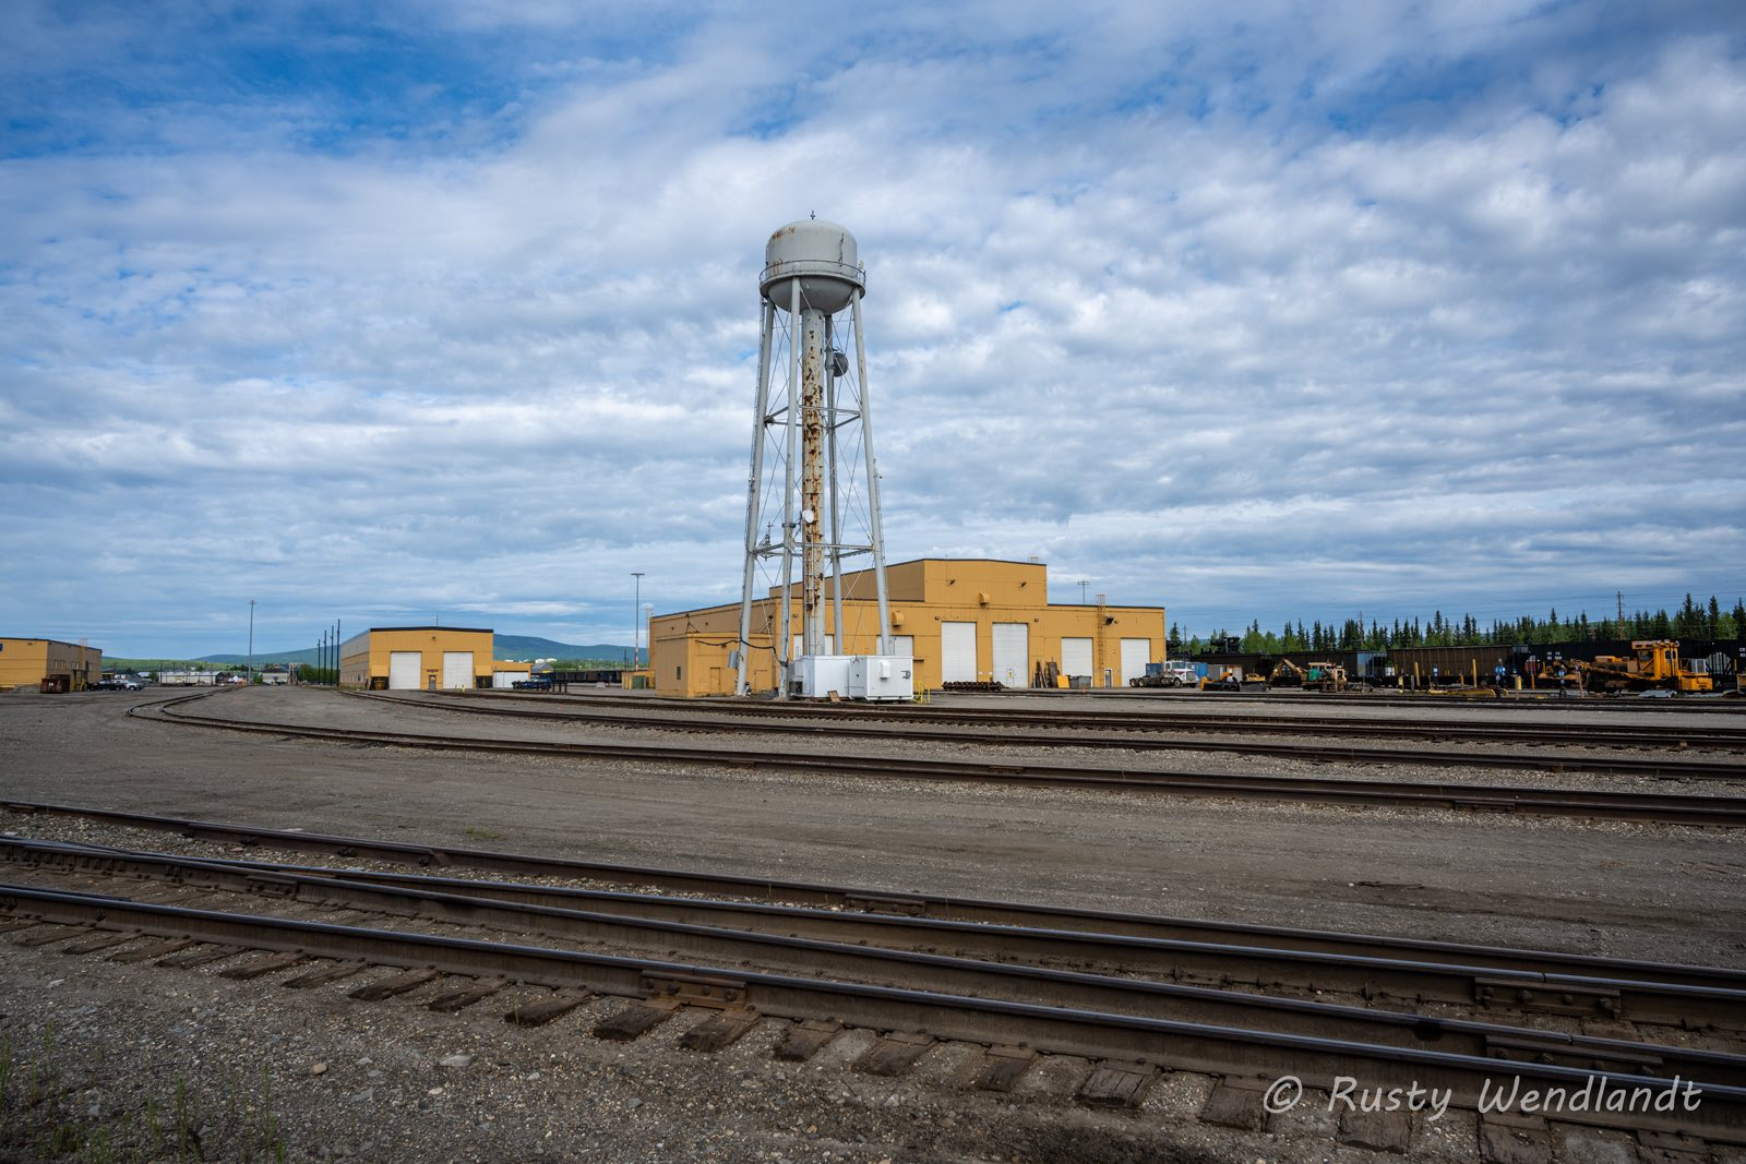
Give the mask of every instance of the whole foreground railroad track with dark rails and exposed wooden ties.
M 157 820 L 164 827 L 169 824 Z M 208 829 L 237 836 L 236 825 L 182 824 L 196 827 L 197 836 L 206 836 Z M 358 846 L 372 853 L 381 850 L 379 843 L 353 838 L 246 832 L 272 845 L 340 843 L 353 852 L 360 852 Z M 440 852 L 464 859 L 461 850 Z M 480 857 L 552 871 L 564 867 L 571 874 L 587 867 L 599 876 L 608 869 L 512 853 Z M 1460 981 L 1468 1007 L 1488 1009 L 1500 995 L 1519 1000 L 1523 991 L 1543 991 L 1543 1014 L 1584 1014 L 1629 1035 L 1638 1033 L 1626 1026 L 1634 1019 L 1639 1026 L 1725 1031 L 1736 1040 L 1746 1024 L 1746 989 L 1741 989 L 1746 976 L 1732 970 L 1594 958 L 1571 962 L 1559 955 L 1486 948 L 1467 948 L 1470 965 L 1432 963 L 1399 956 L 1395 941 L 1315 932 L 1296 932 L 1296 937 L 1306 944 L 1367 942 L 1372 949 L 1392 948 L 1395 955 L 1311 955 L 1233 942 L 1217 949 L 1210 942 L 1165 946 L 1165 939 L 1095 928 L 1021 928 L 903 914 L 843 916 L 730 900 L 309 869 L 26 839 L 5 839 L 0 859 L 14 873 L 14 883 L 0 887 L 0 909 L 10 918 L 17 941 L 61 944 L 82 953 L 113 951 L 112 956 L 122 960 L 225 962 L 225 974 L 237 977 L 295 976 L 286 984 L 361 974 L 365 984 L 354 991 L 358 996 L 382 998 L 430 986 L 426 995 L 435 991 L 435 998 L 428 1002 L 438 1009 L 482 1002 L 508 983 L 555 991 L 527 1007 L 517 1003 L 506 1016 L 515 1021 L 524 1014 L 555 1017 L 590 995 L 632 1000 L 602 1019 L 595 1028 L 602 1037 L 634 1037 L 681 1009 L 691 1009 L 707 1012 L 707 1017 L 697 1019 L 686 1031 L 686 1045 L 719 1049 L 763 1017 L 775 1017 L 793 1024 L 779 1054 L 807 1058 L 842 1026 L 857 1026 L 883 1033 L 870 1058 L 882 1061 L 885 1070 L 901 1070 L 934 1040 L 950 1038 L 988 1047 L 981 1085 L 992 1089 L 1009 1089 L 1039 1051 L 1076 1054 L 1100 1061 L 1098 1072 L 1086 1080 L 1093 1101 L 1098 1094 L 1133 1098 L 1159 1065 L 1227 1077 L 1290 1072 L 1311 1084 L 1351 1073 L 1386 1078 L 1388 1073 L 1409 1072 L 1423 1085 L 1451 1089 L 1456 1103 L 1467 1105 L 1475 1101 L 1486 1080 L 1495 1084 L 1503 1077 L 1564 1087 L 1592 1085 L 1591 1078 L 1598 1078 L 1610 1087 L 1652 1096 L 1695 1080 L 1702 1089 L 1697 1112 L 1676 1106 L 1671 1117 L 1664 1117 L 1639 1110 L 1626 1119 L 1594 1112 L 1592 1122 L 1729 1141 L 1746 1138 L 1746 1087 L 1741 1085 L 1746 1082 L 1746 1058 L 1732 1042 L 1729 1049 L 1716 1051 L 1612 1033 L 1568 1035 L 1516 1021 L 1528 1017 L 1526 1010 L 1512 1010 L 1510 1023 L 1481 1021 L 1248 993 L 1186 983 L 1182 974 L 1166 977 L 1161 972 L 1163 965 L 1180 960 L 1179 970 L 1206 974 L 1224 965 L 1220 974 L 1227 981 L 1257 983 L 1282 972 L 1301 976 L 1304 967 L 1315 965 L 1311 974 L 1320 976 L 1323 988 L 1336 981 L 1353 989 L 1386 981 L 1390 988 L 1423 995 L 1418 1000 L 1421 1009 L 1426 1000 L 1435 1003 L 1437 991 L 1447 983 Z M 663 873 L 613 871 L 622 878 Z M 716 881 L 683 871 L 665 874 L 693 885 Z M 51 883 L 54 878 L 84 880 L 84 887 L 28 885 L 17 883 L 19 876 Z M 766 894 L 777 888 L 761 885 Z M 127 888 L 141 895 L 141 887 L 159 887 L 159 892 L 168 887 L 183 899 L 161 904 L 131 900 L 119 892 Z M 857 897 L 847 888 L 793 888 L 800 894 L 833 894 L 843 900 Z M 234 899 L 246 899 L 248 909 L 215 907 Z M 608 911 L 608 902 L 616 911 Z M 971 906 L 1007 913 L 1030 909 L 1002 902 Z M 368 918 L 391 920 L 393 928 L 285 916 L 295 907 L 360 911 Z M 1086 923 L 1095 914 L 1070 916 Z M 1128 928 L 1177 925 L 1163 918 L 1103 918 Z M 468 928 L 461 935 L 430 932 L 440 925 Z M 496 941 L 477 932 L 517 941 Z M 1280 937 L 1285 934 L 1278 932 Z M 650 958 L 646 953 L 573 949 L 571 942 L 672 953 Z M 973 953 L 1002 948 L 1006 960 L 929 953 L 938 946 L 955 951 L 971 946 Z M 1461 948 L 1444 946 L 1446 953 L 1456 949 Z M 700 962 L 674 962 L 674 955 Z M 1051 958 L 1090 960 L 1098 972 L 1055 969 L 1046 965 Z M 1514 969 L 1484 965 L 1486 960 L 1512 962 Z M 1287 965 L 1297 969 L 1282 970 Z M 1540 969 L 1531 972 L 1526 965 Z M 1149 977 L 1110 972 L 1117 969 L 1124 974 L 1145 970 Z M 454 977 L 463 981 L 447 981 Z M 1514 986 L 1500 986 L 1505 981 Z M 1259 1092 L 1254 1099 L 1259 1101 Z

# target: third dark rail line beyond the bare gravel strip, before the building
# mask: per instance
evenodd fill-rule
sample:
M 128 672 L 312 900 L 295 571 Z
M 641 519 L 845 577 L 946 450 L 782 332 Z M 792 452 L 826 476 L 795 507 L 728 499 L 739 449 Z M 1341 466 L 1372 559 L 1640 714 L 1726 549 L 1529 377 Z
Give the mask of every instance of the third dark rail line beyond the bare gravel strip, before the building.
M 1475 722 L 1402 722 L 1390 719 L 1329 717 L 1315 719 L 1287 716 L 1206 716 L 1200 712 L 1100 712 L 1060 709 L 985 709 L 985 707 L 913 707 L 913 705 L 845 705 L 815 707 L 807 703 L 723 703 L 716 700 L 690 700 L 683 705 L 662 702 L 655 709 L 644 700 L 602 700 L 585 696 L 515 696 L 496 693 L 440 693 L 438 700 L 407 698 L 382 691 L 346 691 L 344 695 L 409 707 L 442 707 L 480 714 L 522 714 L 578 719 L 587 722 L 656 722 L 679 726 L 702 717 L 721 719 L 828 719 L 833 728 L 854 721 L 871 722 L 948 722 L 971 726 L 1035 726 L 1109 731 L 1264 731 L 1276 735 L 1374 735 L 1395 738 L 1460 738 L 1507 743 L 1584 743 L 1591 747 L 1702 747 L 1746 750 L 1746 728 L 1688 728 L 1688 726 L 1620 726 L 1620 724 L 1475 724 Z M 609 703 L 609 710 L 576 710 L 578 703 Z M 498 705 L 498 707 L 492 707 Z M 845 710 L 849 709 L 849 710 Z M 653 712 L 653 714 L 651 714 Z M 677 714 L 672 714 L 677 712 Z M 705 721 L 707 722 L 707 721 Z

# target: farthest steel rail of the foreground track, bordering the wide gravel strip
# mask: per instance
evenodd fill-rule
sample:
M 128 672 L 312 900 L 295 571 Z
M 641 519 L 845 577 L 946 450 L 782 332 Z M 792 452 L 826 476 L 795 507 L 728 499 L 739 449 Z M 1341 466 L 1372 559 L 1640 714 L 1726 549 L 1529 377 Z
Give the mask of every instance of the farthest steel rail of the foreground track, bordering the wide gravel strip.
M 665 869 L 655 866 L 573 860 L 533 853 L 414 845 L 405 841 L 307 832 L 302 829 L 265 829 L 244 824 L 189 820 L 182 817 L 161 817 L 37 801 L 3 801 L 0 803 L 0 808 L 19 813 L 73 817 L 119 827 L 173 832 L 189 839 L 225 845 L 328 853 L 344 859 L 368 859 L 417 867 L 480 869 L 512 876 L 588 880 L 608 885 L 644 885 L 681 894 L 737 895 L 754 902 L 810 904 L 822 906 L 831 911 L 859 911 L 899 918 L 938 918 L 946 921 L 1006 925 L 1014 928 L 1074 930 L 1116 937 L 1205 942 L 1215 946 L 1243 942 L 1261 944 L 1271 949 L 1348 955 L 1360 958 L 1454 962 L 1521 977 L 1564 974 L 1605 979 L 1646 979 L 1674 986 L 1746 989 L 1746 970 L 1730 967 L 1697 967 L 1673 962 L 1641 962 L 1606 958 L 1599 955 L 1474 946 L 1413 937 L 1346 934 L 1337 930 L 1303 930 L 1292 927 L 1255 925 L 1250 921 L 1168 918 L 1158 914 L 1072 909 L 974 897 L 925 895 L 894 892 L 889 888 L 838 887 L 815 881 L 784 881 L 773 878 Z M 227 864 L 250 862 L 230 860 Z M 356 871 L 347 871 L 347 874 L 368 876 Z M 461 883 L 475 885 L 473 881 Z

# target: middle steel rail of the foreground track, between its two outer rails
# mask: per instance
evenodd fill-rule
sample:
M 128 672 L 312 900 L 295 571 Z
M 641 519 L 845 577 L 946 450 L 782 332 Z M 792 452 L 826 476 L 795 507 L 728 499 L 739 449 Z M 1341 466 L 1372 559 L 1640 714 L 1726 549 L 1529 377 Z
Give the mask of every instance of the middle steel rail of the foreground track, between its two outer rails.
M 492 921 L 489 907 L 501 907 L 513 911 L 501 920 L 505 928 L 536 928 L 553 937 L 580 941 L 648 944 L 637 942 L 636 932 L 627 937 L 622 932 L 609 932 L 611 927 L 601 921 L 602 918 L 629 918 L 627 925 L 630 927 L 677 925 L 698 927 L 693 932 L 702 934 L 730 930 L 760 935 L 777 934 L 777 941 L 782 937 L 815 939 L 835 944 L 838 951 L 908 949 L 938 955 L 945 948 L 945 953 L 955 958 L 978 962 L 1070 963 L 1081 970 L 1107 967 L 1123 972 L 1165 974 L 1186 981 L 1194 991 L 1206 984 L 1294 986 L 1362 995 L 1365 1000 L 1400 998 L 1418 1007 L 1440 1003 L 1488 1010 L 1519 1005 L 1526 1012 L 1612 1017 L 1638 1024 L 1746 1028 L 1746 983 L 1690 986 L 1652 979 L 1570 974 L 1556 969 L 1502 974 L 1488 965 L 1374 955 L 1187 942 L 892 914 L 845 914 L 831 909 L 719 899 L 698 900 L 609 890 L 470 881 L 430 874 L 321 869 L 283 862 L 203 859 L 16 838 L 0 838 L 0 859 L 51 873 L 154 878 L 241 894 L 269 894 L 325 907 L 363 907 L 396 914 L 436 916 L 457 923 L 489 925 Z M 595 923 L 594 928 L 588 928 L 588 923 L 578 923 L 578 918 Z M 667 930 L 653 932 L 656 934 L 653 944 L 672 944 L 665 937 Z M 718 955 L 712 948 L 700 948 L 697 953 Z M 981 993 L 988 986 L 983 984 L 976 989 Z M 1184 996 L 1200 998 L 1201 995 Z M 1243 1005 L 1254 1005 L 1248 1002 L 1250 996 L 1243 998 Z M 1477 1038 L 1489 1037 L 1489 1026 L 1446 1028 L 1442 1019 L 1430 1019 L 1430 1023 L 1432 1026 L 1418 1031 L 1423 1038 L 1442 1038 L 1454 1030 L 1465 1030 Z M 1556 1037 L 1556 1042 L 1564 1040 Z M 1603 1054 L 1620 1051 L 1617 1044 L 1594 1045 Z M 1486 1051 L 1484 1047 L 1477 1049 L 1477 1052 Z M 1584 1052 L 1561 1047 L 1547 1054 Z M 1667 1061 L 1673 1063 L 1673 1059 Z M 1730 1082 L 1746 1084 L 1746 1077 Z

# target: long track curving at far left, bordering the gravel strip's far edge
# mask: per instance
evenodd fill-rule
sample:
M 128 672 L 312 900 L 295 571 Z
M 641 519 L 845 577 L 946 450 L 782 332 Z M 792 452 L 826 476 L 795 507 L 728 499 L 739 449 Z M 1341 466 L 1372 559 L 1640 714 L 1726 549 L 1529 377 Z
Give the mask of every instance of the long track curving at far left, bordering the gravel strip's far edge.
M 1594 820 L 1638 820 L 1681 825 L 1746 825 L 1746 799 L 1671 792 L 1601 792 L 1479 784 L 1425 784 L 1400 780 L 1337 780 L 1320 777 L 1255 777 L 1233 773 L 1145 771 L 1086 764 L 1030 764 L 1016 761 L 932 761 L 897 756 L 856 756 L 843 750 L 772 754 L 753 749 L 674 747 L 665 743 L 571 743 L 553 740 L 498 740 L 485 736 L 363 731 L 325 726 L 250 722 L 203 716 L 185 705 L 213 693 L 141 703 L 129 716 L 278 738 L 374 743 L 435 750 L 496 752 L 515 756 L 567 756 L 578 759 L 632 759 L 749 770 L 803 770 L 852 777 L 911 780 L 974 780 L 1020 787 L 1165 792 L 1227 799 L 1299 801 L 1344 806 L 1449 808 L 1460 811 L 1524 813 Z M 1674 775 L 1664 771 L 1662 775 Z

